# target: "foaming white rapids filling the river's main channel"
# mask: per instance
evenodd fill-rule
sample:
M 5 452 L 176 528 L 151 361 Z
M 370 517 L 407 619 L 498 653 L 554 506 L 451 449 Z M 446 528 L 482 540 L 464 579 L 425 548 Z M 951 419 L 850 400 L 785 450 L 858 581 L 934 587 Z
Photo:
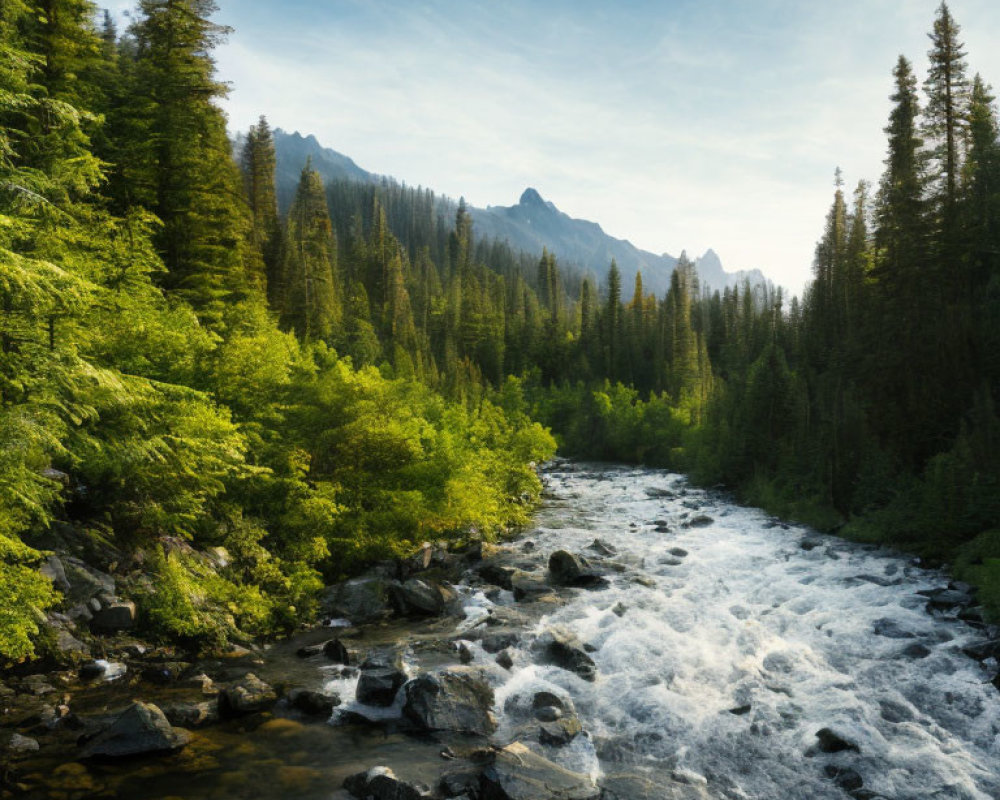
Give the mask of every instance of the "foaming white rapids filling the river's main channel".
M 501 736 L 505 702 L 548 689 L 572 698 L 588 735 L 547 755 L 595 776 L 628 768 L 727 800 L 814 800 L 848 796 L 837 767 L 860 774 L 861 797 L 1000 798 L 996 664 L 964 655 L 983 633 L 928 614 L 918 594 L 944 574 L 670 473 L 566 464 L 546 483 L 534 550 L 586 554 L 597 537 L 624 566 L 604 590 L 561 590 L 568 601 L 534 629 L 591 645 L 597 680 L 534 664 L 525 644 L 495 673 Z M 817 752 L 823 728 L 859 752 Z

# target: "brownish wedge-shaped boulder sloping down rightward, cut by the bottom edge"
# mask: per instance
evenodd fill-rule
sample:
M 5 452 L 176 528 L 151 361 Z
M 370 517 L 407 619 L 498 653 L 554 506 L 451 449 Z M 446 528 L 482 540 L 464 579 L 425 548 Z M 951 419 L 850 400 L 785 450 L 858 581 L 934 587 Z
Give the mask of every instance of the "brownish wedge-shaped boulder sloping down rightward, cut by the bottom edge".
M 597 800 L 589 775 L 571 772 L 514 742 L 496 754 L 480 777 L 482 800 Z

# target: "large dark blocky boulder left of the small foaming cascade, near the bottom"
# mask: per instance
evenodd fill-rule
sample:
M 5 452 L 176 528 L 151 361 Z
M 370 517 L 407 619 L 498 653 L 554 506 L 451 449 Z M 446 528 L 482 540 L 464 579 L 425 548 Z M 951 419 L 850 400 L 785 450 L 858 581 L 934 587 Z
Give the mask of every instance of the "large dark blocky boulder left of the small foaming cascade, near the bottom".
M 481 670 L 452 667 L 406 684 L 403 714 L 423 730 L 489 735 L 497 728 L 493 689 Z

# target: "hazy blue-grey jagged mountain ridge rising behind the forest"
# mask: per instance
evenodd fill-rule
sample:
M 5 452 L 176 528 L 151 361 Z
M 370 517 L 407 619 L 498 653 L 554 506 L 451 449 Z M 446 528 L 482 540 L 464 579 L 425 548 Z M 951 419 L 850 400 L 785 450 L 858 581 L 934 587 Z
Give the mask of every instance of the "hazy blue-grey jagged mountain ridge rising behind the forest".
M 313 167 L 324 181 L 371 183 L 382 180 L 342 153 L 323 147 L 312 135 L 302 136 L 297 131 L 286 133 L 276 128 L 274 145 L 278 162 L 278 206 L 282 212 L 292 203 L 307 158 L 312 159 Z M 517 205 L 470 206 L 469 212 L 477 236 L 506 240 L 515 250 L 536 255 L 547 249 L 561 264 L 591 272 L 600 280 L 608 274 L 614 259 L 621 271 L 622 295 L 626 298 L 631 296 L 635 274 L 640 270 L 646 291 L 662 295 L 670 285 L 670 275 L 677 264 L 677 259 L 668 253 L 657 255 L 640 250 L 625 239 L 609 236 L 596 222 L 570 217 L 531 188 L 524 190 Z M 721 290 L 747 279 L 751 283 L 765 282 L 759 270 L 726 272 L 713 250 L 696 259 L 695 265 L 703 286 L 711 289 Z

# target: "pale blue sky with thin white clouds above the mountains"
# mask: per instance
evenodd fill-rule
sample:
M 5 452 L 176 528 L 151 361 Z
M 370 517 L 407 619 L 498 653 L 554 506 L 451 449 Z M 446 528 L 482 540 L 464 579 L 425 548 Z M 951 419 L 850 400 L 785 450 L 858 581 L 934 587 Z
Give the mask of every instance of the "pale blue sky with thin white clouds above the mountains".
M 532 186 L 800 293 L 835 168 L 878 181 L 892 68 L 923 80 L 938 2 L 218 0 L 216 57 L 234 132 L 265 114 L 476 206 Z M 1000 2 L 949 7 L 1000 86 Z

